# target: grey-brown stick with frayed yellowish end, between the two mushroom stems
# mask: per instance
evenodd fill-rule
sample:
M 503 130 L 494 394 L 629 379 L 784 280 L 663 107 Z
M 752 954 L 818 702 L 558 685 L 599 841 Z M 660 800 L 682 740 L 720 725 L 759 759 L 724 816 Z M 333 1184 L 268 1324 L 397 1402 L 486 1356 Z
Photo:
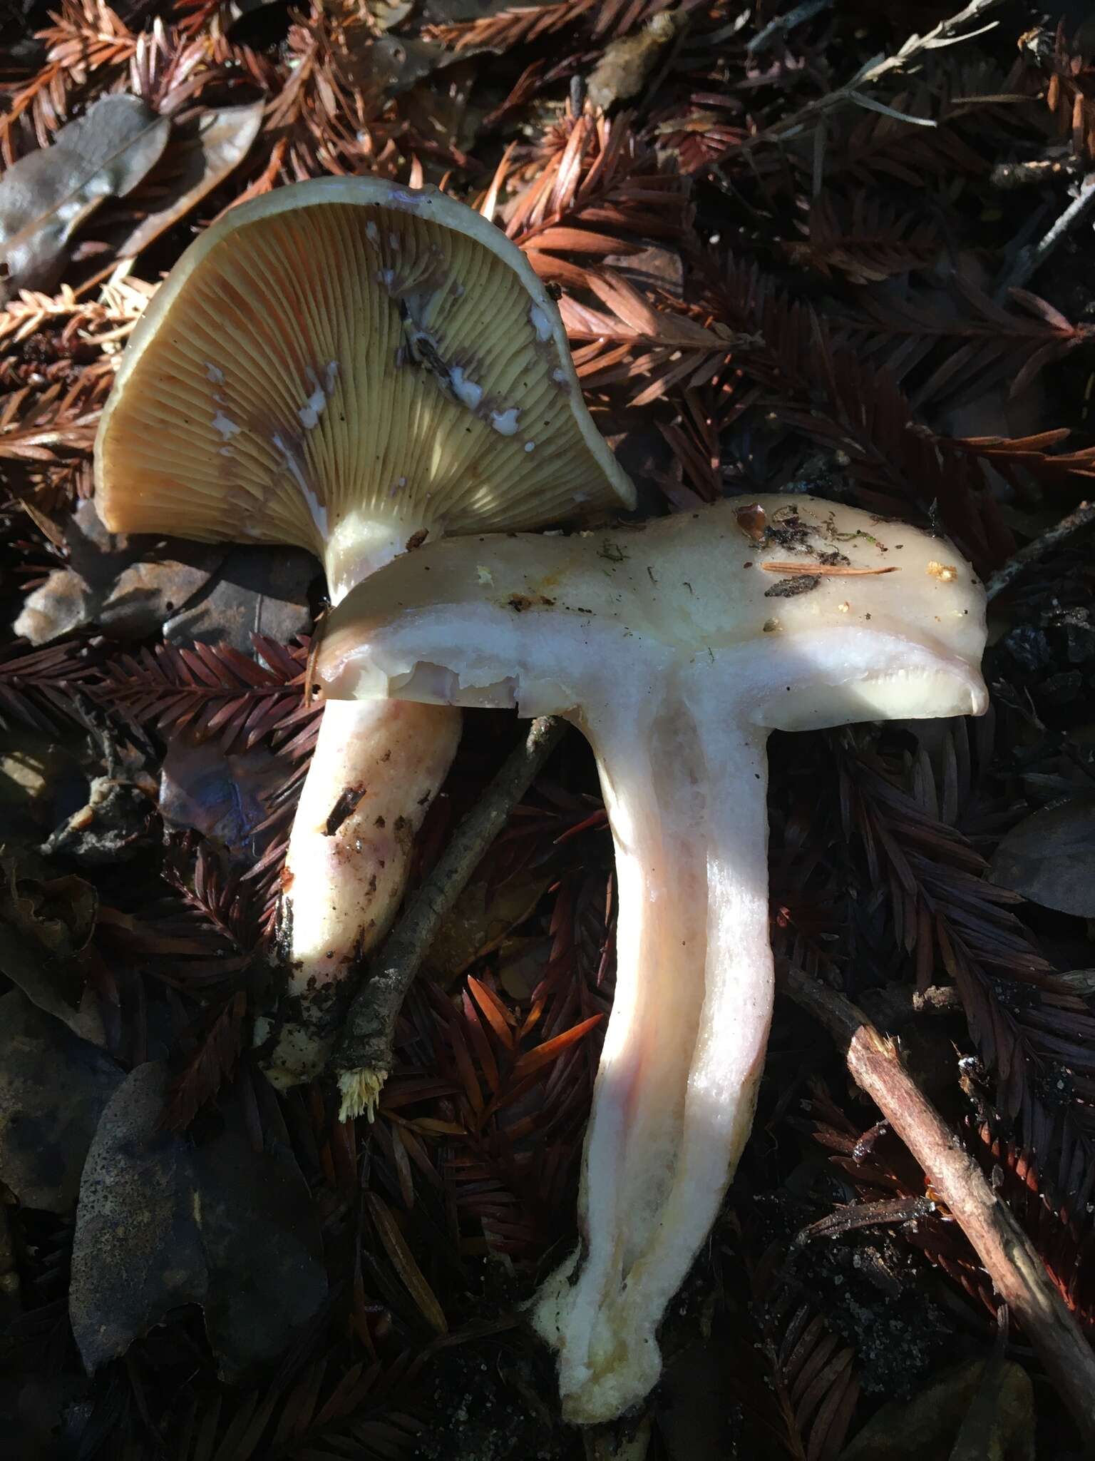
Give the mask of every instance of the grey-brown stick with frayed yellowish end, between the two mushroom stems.
M 407 903 L 383 948 L 369 960 L 365 983 L 350 1005 L 334 1052 L 342 1121 L 362 1112 L 372 1119 L 391 1069 L 396 1020 L 419 964 L 486 849 L 565 729 L 566 722 L 558 716 L 533 720 L 526 741 L 502 763 L 482 801 L 460 823 L 438 865 Z

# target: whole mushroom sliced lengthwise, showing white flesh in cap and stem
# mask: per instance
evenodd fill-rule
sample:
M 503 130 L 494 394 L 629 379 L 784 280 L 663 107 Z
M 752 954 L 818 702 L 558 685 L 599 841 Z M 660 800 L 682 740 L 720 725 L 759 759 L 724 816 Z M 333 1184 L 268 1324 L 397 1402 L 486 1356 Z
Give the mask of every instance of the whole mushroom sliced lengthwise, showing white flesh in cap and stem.
M 984 590 L 945 541 L 799 495 L 442 542 L 331 615 L 330 695 L 562 714 L 597 757 L 616 992 L 581 1243 L 531 1311 L 569 1420 L 656 1382 L 658 1321 L 749 1135 L 772 1010 L 769 733 L 980 714 L 984 636 Z

